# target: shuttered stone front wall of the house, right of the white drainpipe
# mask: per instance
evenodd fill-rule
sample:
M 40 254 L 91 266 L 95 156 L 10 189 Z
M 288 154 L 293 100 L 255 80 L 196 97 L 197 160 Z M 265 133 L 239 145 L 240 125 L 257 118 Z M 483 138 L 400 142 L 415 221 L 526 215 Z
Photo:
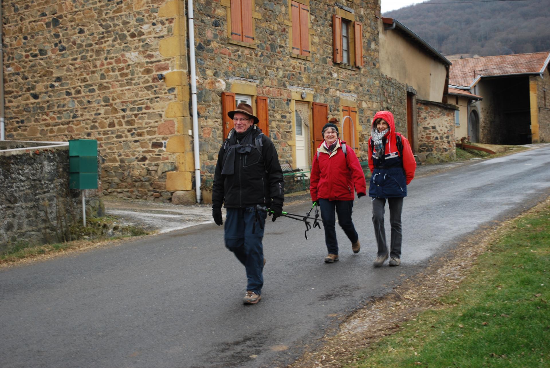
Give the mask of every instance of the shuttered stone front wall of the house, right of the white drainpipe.
M 206 179 L 213 176 L 217 153 L 224 139 L 221 94 L 234 91 L 236 84 L 249 85 L 256 96 L 268 97 L 270 137 L 281 163 L 293 163 L 292 146 L 289 145 L 289 141 L 294 140 L 290 86 L 310 91 L 313 102 L 327 103 L 328 118 L 340 118 L 343 100 L 356 102 L 359 141 L 368 139 L 370 119 L 380 108 L 378 25 L 375 18 L 379 15 L 379 4 L 372 0 L 346 2 L 345 5 L 354 10 L 355 20 L 363 25 L 365 63 L 364 68 L 346 69 L 332 61 L 332 15 L 339 10 L 336 3 L 314 0 L 308 3 L 311 60 L 291 56 L 290 2 L 254 2 L 254 47 L 228 42 L 229 2 L 196 3 L 200 160 L 201 172 Z M 366 143 L 360 144 L 360 160 L 366 160 L 366 151 Z

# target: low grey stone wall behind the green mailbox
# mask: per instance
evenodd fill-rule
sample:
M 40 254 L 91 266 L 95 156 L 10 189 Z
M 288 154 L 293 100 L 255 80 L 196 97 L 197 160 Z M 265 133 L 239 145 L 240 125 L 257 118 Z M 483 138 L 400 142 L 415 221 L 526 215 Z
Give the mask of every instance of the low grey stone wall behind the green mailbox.
M 0 149 L 20 146 L 5 141 Z M 80 190 L 69 189 L 68 173 L 68 146 L 0 152 L 0 252 L 18 241 L 68 240 L 68 227 L 82 214 Z M 102 215 L 96 190 L 86 191 L 86 208 L 86 216 Z

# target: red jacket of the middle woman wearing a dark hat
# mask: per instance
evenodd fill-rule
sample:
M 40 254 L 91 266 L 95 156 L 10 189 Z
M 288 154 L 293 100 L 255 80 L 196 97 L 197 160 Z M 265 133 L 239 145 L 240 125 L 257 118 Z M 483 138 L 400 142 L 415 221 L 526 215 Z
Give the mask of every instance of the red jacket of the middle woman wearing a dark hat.
M 344 155 L 341 143 L 342 141 L 338 139 L 338 143 L 330 155 L 323 143 L 317 148 L 319 153 L 313 156 L 311 167 L 312 201 L 320 198 L 329 201 L 353 201 L 355 199 L 354 189 L 357 194 L 366 194 L 367 184 L 359 159 L 348 145 L 346 145 L 346 155 Z

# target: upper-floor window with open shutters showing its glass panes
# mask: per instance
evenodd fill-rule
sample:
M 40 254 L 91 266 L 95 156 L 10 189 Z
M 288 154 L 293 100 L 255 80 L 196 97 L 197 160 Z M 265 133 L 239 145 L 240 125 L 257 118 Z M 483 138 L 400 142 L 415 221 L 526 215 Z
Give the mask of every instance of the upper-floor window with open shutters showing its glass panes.
M 340 15 L 333 15 L 332 31 L 334 63 L 362 68 L 363 25 Z

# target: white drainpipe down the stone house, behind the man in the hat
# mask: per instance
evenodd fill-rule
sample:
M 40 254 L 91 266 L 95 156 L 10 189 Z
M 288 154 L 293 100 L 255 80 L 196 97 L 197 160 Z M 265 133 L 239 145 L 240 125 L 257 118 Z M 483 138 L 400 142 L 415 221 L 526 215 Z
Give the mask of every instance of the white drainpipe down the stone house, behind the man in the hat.
M 199 120 L 197 119 L 197 75 L 195 71 L 195 29 L 193 0 L 187 1 L 189 17 L 189 60 L 191 70 L 191 108 L 193 109 L 193 147 L 195 153 L 195 191 L 197 203 L 201 202 L 201 162 L 199 151 Z

